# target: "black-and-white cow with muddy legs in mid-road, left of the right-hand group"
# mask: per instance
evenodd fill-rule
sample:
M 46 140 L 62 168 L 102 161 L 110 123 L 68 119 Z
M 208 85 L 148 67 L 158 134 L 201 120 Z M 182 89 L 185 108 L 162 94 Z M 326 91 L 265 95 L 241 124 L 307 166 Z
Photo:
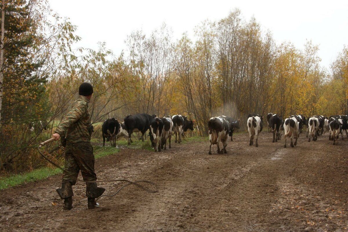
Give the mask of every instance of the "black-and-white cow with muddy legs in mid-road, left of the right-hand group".
M 209 130 L 209 155 L 212 154 L 212 145 L 217 145 L 217 153 L 227 153 L 227 139 L 230 128 L 228 126 L 228 121 L 223 117 L 213 117 L 208 121 Z M 220 141 L 222 142 L 223 148 L 220 150 Z

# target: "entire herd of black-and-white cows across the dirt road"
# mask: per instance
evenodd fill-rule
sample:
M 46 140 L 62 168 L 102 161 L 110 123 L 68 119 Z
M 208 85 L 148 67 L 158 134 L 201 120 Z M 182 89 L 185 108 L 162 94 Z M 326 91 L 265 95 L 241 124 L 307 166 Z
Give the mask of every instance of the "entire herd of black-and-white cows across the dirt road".
M 247 129 L 250 136 L 249 145 L 254 144 L 258 147 L 259 133 L 263 128 L 263 116 L 258 114 L 249 114 L 247 117 Z M 175 143 L 181 142 L 183 133 L 188 129 L 193 130 L 193 123 L 195 120 L 188 120 L 187 117 L 181 116 L 180 114 L 167 116 L 163 118 L 157 117 L 157 115 L 149 114 L 135 114 L 128 115 L 124 122 L 119 123 L 117 119 L 110 118 L 103 122 L 102 125 L 102 136 L 103 146 L 106 141 L 110 141 L 112 146 L 116 146 L 116 140 L 120 136 L 128 136 L 128 144 L 132 141 L 131 135 L 133 132 L 141 132 L 141 139 L 144 141 L 144 135 L 149 130 L 149 136 L 152 147 L 155 151 L 166 150 L 167 140 L 169 141 L 169 148 L 171 148 L 171 137 L 175 134 Z M 231 117 L 219 116 L 212 117 L 208 121 L 209 130 L 209 154 L 212 154 L 212 145 L 217 145 L 218 153 L 227 153 L 226 146 L 228 137 L 231 141 L 233 131 L 235 128 L 239 129 L 240 119 L 234 120 Z M 333 140 L 333 144 L 337 143 L 339 134 L 343 139 L 343 130 L 346 131 L 348 136 L 348 116 L 347 115 L 333 115 L 329 118 L 325 118 L 322 115 L 313 116 L 308 119 L 303 115 L 292 115 L 286 118 L 284 121 L 278 114 L 267 114 L 267 125 L 269 130 L 273 133 L 273 141 L 277 142 L 282 136 L 282 130 L 284 130 L 285 144 L 286 139 L 290 138 L 290 145 L 296 146 L 297 139 L 302 133 L 303 126 L 307 126 L 307 136 L 309 137 L 308 142 L 311 138 L 313 141 L 317 140 L 318 135 L 325 134 L 326 130 L 329 131 L 329 139 Z M 177 138 L 179 137 L 179 138 Z M 222 142 L 222 149 L 220 149 L 220 142 Z

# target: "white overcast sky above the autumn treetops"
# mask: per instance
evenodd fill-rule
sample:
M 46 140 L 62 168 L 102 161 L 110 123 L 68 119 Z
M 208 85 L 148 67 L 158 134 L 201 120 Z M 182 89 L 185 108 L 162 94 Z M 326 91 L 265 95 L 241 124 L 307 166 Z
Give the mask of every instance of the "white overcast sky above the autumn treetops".
M 78 26 L 82 39 L 76 45 L 97 49 L 98 42 L 119 55 L 126 50 L 125 40 L 132 31 L 149 35 L 165 22 L 173 30 L 174 40 L 205 19 L 217 21 L 235 8 L 249 21 L 252 16 L 263 30 L 273 33 L 277 45 L 292 42 L 303 49 L 307 40 L 319 45 L 321 65 L 329 69 L 332 61 L 348 46 L 347 0 L 48 0 L 62 17 L 69 17 Z

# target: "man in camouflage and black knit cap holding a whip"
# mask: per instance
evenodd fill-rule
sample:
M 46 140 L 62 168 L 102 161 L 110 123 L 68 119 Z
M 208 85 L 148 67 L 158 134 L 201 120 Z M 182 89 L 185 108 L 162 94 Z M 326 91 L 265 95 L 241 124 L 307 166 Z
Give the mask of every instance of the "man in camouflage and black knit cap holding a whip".
M 65 210 L 72 208 L 72 185 L 76 184 L 79 171 L 86 182 L 86 197 L 88 209 L 97 206 L 95 198 L 100 197 L 105 189 L 97 187 L 97 176 L 94 171 L 93 147 L 90 144 L 90 115 L 88 103 L 92 98 L 93 87 L 89 83 L 82 83 L 79 87 L 79 97 L 73 102 L 68 114 L 65 115 L 52 137 L 61 138 L 65 145 L 65 165 L 62 177 L 62 188 L 57 192 L 64 200 Z

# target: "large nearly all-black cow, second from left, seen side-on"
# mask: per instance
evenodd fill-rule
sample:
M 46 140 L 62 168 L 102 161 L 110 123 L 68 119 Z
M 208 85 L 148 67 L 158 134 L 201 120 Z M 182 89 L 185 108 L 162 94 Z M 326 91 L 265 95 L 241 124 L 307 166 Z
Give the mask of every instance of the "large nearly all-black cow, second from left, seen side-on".
M 130 136 L 132 136 L 133 132 L 141 131 L 141 139 L 144 141 L 144 135 L 146 131 L 150 128 L 150 120 L 156 118 L 156 115 L 149 115 L 149 114 L 135 114 L 135 115 L 128 115 L 124 122 L 125 122 L 125 129 L 128 133 L 128 145 L 130 144 L 131 139 Z

